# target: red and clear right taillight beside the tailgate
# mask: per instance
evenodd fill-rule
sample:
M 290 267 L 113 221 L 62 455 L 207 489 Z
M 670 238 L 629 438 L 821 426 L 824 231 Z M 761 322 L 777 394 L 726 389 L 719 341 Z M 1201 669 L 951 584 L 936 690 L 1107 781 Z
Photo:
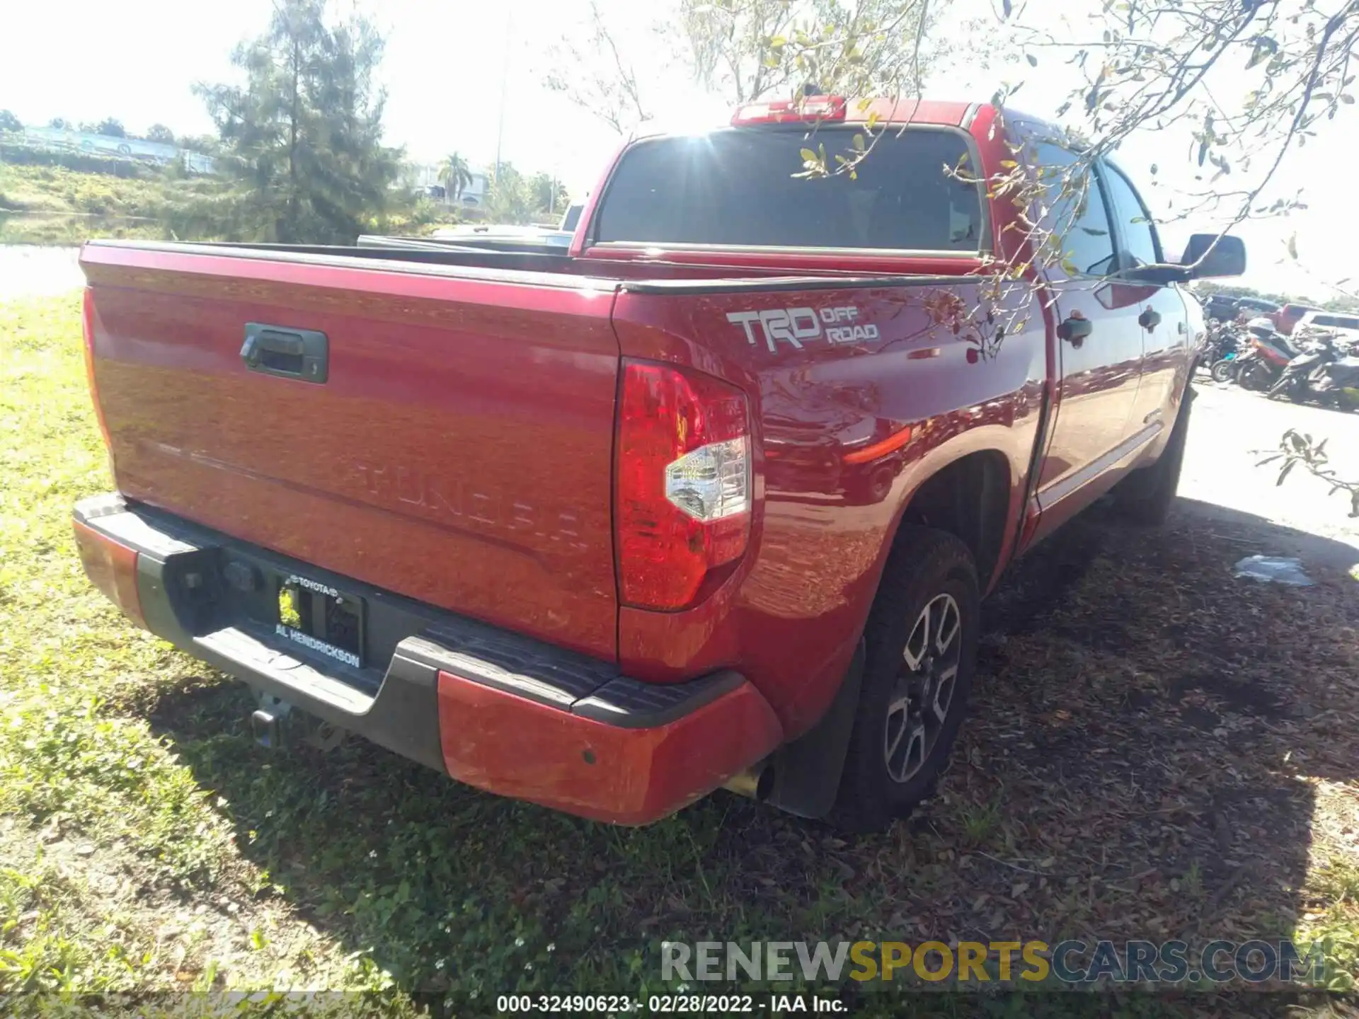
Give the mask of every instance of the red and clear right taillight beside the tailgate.
M 626 605 L 675 610 L 750 539 L 745 394 L 709 375 L 624 361 L 614 527 Z

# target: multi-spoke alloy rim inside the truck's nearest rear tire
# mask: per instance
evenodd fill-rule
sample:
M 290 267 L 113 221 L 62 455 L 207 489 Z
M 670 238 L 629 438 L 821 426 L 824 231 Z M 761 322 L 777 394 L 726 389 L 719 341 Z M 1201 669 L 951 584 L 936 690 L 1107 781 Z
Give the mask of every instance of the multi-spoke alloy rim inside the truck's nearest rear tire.
M 962 613 L 950 594 L 925 602 L 901 649 L 882 755 L 887 777 L 911 781 L 934 753 L 953 707 L 962 658 Z

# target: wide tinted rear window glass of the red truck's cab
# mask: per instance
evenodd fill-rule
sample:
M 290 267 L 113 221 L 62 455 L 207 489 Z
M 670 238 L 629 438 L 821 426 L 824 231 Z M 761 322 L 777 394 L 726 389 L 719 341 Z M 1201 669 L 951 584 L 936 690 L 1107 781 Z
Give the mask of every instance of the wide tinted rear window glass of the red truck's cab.
M 622 158 L 603 196 L 595 240 L 656 245 L 772 245 L 976 251 L 977 185 L 946 167 L 965 162 L 966 140 L 949 130 L 889 129 L 848 174 L 795 178 L 802 148 L 852 149 L 855 130 L 728 129 L 641 141 Z

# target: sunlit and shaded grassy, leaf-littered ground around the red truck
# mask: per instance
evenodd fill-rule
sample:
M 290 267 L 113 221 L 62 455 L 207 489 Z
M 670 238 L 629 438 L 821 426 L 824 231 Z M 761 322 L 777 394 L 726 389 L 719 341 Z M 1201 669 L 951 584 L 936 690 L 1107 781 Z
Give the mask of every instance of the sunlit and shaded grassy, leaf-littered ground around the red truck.
M 616 829 L 359 742 L 261 750 L 239 685 L 80 571 L 71 504 L 110 482 L 75 298 L 0 303 L 0 993 L 488 1015 L 511 990 L 662 990 L 663 939 L 836 936 L 1326 936 L 1333 982 L 1359 973 L 1355 586 L 1233 586 L 1248 538 L 1095 522 L 1037 554 L 988 610 L 939 795 L 847 841 L 726 793 Z M 829 990 L 855 1015 L 1330 1007 Z

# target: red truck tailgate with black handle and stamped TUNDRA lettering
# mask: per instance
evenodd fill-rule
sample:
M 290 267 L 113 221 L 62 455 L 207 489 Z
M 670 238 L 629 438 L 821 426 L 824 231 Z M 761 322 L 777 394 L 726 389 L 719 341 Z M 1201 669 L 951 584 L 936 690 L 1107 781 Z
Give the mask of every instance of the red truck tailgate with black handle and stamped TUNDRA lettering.
M 609 284 L 96 243 L 82 265 L 128 499 L 614 658 Z

